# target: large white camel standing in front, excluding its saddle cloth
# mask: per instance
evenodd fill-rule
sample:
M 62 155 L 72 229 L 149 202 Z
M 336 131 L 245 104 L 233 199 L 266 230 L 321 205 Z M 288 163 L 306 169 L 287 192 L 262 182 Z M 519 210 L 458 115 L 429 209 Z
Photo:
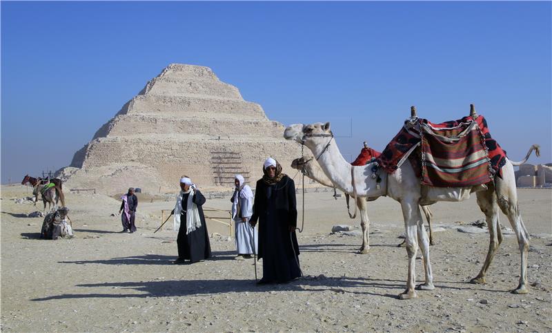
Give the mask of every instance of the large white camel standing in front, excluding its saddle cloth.
M 475 112 L 474 112 L 475 113 Z M 376 180 L 371 178 L 371 169 L 375 165 L 368 163 L 366 166 L 353 167 L 346 162 L 333 141 L 333 133 L 330 131 L 330 123 L 314 124 L 293 124 L 284 131 L 286 140 L 295 140 L 311 149 L 313 155 L 324 170 L 324 173 L 335 184 L 335 187 L 349 193 L 351 196 L 377 197 L 388 196 L 397 200 L 401 204 L 402 215 L 404 217 L 404 226 L 406 229 L 406 253 L 408 254 L 408 278 L 406 281 L 406 290 L 399 295 L 400 299 L 416 298 L 415 291 L 415 258 L 418 245 L 422 249 L 424 258 L 424 276 L 425 281 L 417 289 L 433 290 L 433 273 L 431 270 L 431 261 L 429 260 L 429 247 L 426 229 L 422 222 L 420 213 L 420 199 L 427 199 L 431 202 L 437 202 L 442 198 L 435 196 L 433 198 L 422 198 L 422 185 L 420 178 L 411 163 L 406 161 L 393 174 L 382 173 L 382 182 L 377 187 Z M 527 154 L 531 153 L 535 146 Z M 520 209 L 517 204 L 517 191 L 515 189 L 515 177 L 513 165 L 520 165 L 523 162 L 511 162 L 506 159 L 502 166 L 502 178 L 496 177 L 493 182 L 486 184 L 486 188 L 476 192 L 477 204 L 486 216 L 489 226 L 489 251 L 485 262 L 477 276 L 471 280 L 472 283 L 485 283 L 485 275 L 491 265 L 493 256 L 502 242 L 502 232 L 498 225 L 498 209 L 508 216 L 511 227 L 515 232 L 517 244 L 520 248 L 520 281 L 513 290 L 514 294 L 526 294 L 529 292 L 527 286 L 527 255 L 529 251 L 529 233 L 526 231 Z M 353 181 L 354 180 L 354 181 Z M 460 188 L 443 188 L 442 193 L 455 195 L 461 198 Z M 367 221 L 367 219 L 366 219 Z

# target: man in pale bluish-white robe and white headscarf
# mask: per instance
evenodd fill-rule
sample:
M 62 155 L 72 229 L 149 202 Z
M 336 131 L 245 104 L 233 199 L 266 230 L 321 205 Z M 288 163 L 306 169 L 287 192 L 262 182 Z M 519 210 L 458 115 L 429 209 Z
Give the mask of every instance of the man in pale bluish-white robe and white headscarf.
M 253 191 L 242 175 L 236 175 L 234 184 L 236 187 L 230 201 L 235 225 L 236 259 L 251 258 L 252 254 L 257 254 L 258 239 L 257 228 L 249 224 L 253 215 Z

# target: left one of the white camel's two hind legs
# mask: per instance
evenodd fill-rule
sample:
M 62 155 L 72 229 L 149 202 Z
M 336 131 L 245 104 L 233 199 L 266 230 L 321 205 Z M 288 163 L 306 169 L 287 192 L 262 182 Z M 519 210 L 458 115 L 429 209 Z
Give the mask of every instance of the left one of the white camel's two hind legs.
M 500 225 L 498 225 L 498 203 L 494 187 L 490 187 L 487 191 L 476 193 L 477 204 L 481 211 L 485 214 L 487 225 L 489 226 L 489 251 L 483 263 L 483 267 L 475 278 L 471 279 L 471 283 L 485 283 L 485 275 L 487 269 L 493 261 L 493 257 L 502 242 L 502 234 L 500 233 Z

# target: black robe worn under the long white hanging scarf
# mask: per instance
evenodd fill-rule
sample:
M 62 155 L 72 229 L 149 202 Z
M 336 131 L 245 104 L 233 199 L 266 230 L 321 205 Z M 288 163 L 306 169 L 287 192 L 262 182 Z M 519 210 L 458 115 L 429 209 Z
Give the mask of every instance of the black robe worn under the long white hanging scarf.
M 203 213 L 205 197 L 201 192 L 195 190 L 192 201 L 197 204 L 197 211 L 201 219 L 201 227 L 191 231 L 186 235 L 186 209 L 189 193 L 182 196 L 182 211 L 180 213 L 180 229 L 178 229 L 177 245 L 178 258 L 181 260 L 190 260 L 191 263 L 197 263 L 211 256 L 211 246 L 209 243 L 209 234 L 207 224 Z

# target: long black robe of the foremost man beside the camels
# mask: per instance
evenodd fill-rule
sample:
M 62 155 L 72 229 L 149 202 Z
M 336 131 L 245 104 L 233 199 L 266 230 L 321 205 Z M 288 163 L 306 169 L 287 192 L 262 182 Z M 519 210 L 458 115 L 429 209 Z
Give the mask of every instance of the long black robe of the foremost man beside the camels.
M 283 283 L 301 276 L 297 226 L 295 182 L 285 175 L 273 185 L 257 181 L 253 216 L 259 220 L 259 259 L 263 259 L 264 283 Z

